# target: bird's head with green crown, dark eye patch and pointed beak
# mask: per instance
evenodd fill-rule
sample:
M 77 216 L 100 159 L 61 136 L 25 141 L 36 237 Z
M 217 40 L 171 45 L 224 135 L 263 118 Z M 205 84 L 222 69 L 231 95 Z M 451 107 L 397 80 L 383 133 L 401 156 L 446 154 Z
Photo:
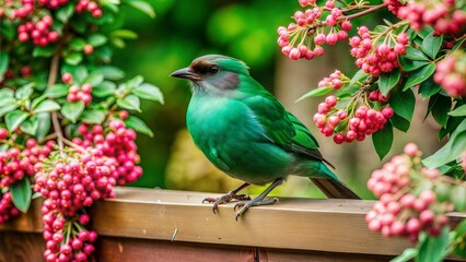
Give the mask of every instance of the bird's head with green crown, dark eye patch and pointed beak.
M 208 55 L 196 58 L 189 68 L 179 69 L 173 78 L 187 79 L 194 93 L 224 94 L 240 87 L 241 75 L 249 75 L 247 66 L 235 58 Z

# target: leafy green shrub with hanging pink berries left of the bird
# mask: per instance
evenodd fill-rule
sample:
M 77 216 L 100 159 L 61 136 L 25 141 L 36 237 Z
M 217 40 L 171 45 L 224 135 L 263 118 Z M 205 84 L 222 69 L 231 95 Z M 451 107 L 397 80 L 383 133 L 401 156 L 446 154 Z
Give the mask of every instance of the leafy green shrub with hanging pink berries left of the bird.
M 120 28 L 120 8 L 151 17 L 147 1 L 0 1 L 0 223 L 42 195 L 47 261 L 88 261 L 97 237 L 89 206 L 142 175 L 130 114 L 163 103 L 142 76 L 110 66 L 137 34 Z M 35 191 L 35 193 L 33 193 Z

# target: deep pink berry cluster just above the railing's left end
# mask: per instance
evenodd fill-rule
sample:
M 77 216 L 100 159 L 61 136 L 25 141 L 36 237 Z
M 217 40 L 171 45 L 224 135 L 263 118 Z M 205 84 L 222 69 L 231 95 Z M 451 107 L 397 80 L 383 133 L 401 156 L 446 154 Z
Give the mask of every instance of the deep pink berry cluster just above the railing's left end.
M 127 117 L 127 111 L 121 111 L 120 116 Z M 125 127 L 121 120 L 113 120 L 108 124 L 109 130 L 104 133 L 102 126 L 92 128 L 82 124 L 79 133 L 83 139 L 75 138 L 73 142 L 84 148 L 96 148 L 105 157 L 115 159 L 116 171 L 118 174 L 117 184 L 127 184 L 136 181 L 142 175 L 142 168 L 138 166 L 140 160 L 137 153 L 138 146 L 135 143 L 136 132 Z

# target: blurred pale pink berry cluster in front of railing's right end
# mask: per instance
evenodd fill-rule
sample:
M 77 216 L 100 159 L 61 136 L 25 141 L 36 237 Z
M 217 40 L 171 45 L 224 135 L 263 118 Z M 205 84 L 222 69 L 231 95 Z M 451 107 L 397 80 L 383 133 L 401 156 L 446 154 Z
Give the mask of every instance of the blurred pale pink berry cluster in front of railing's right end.
M 452 204 L 440 202 L 434 188 L 417 192 L 408 190 L 421 181 L 433 180 L 440 176 L 436 169 L 419 167 L 421 152 L 416 144 L 407 144 L 405 154 L 386 163 L 382 169 L 374 170 L 368 181 L 368 188 L 380 199 L 370 211 L 365 221 L 373 231 L 385 237 L 408 236 L 418 241 L 420 231 L 438 236 L 448 222 L 445 212 Z

